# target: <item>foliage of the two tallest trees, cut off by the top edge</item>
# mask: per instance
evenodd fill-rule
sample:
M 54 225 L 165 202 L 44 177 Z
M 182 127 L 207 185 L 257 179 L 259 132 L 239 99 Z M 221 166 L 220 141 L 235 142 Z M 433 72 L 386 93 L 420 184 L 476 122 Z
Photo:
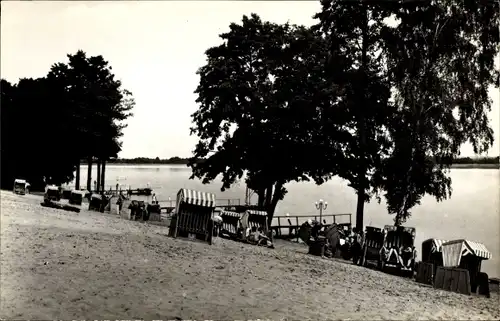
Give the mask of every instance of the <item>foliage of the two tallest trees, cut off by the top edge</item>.
M 451 195 L 447 169 L 461 145 L 470 142 L 476 152 L 491 145 L 487 90 L 498 81 L 498 2 L 322 1 L 316 18 L 335 60 L 350 60 L 345 74 L 359 75 L 330 80 L 357 106 L 348 125 L 355 139 L 345 141 L 357 148 L 342 162 L 353 166 L 340 176 L 358 198 L 362 186 L 367 196 L 368 188 L 383 191 L 401 224 L 424 194 L 438 201 Z M 359 214 L 358 206 L 357 223 Z

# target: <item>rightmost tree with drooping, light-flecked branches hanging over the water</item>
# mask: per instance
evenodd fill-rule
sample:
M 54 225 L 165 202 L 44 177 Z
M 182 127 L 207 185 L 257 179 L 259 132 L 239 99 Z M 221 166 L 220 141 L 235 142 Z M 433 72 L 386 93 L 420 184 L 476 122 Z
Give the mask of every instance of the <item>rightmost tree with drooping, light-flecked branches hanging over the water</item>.
M 393 152 L 376 175 L 397 225 L 424 194 L 451 196 L 447 175 L 466 142 L 493 143 L 488 87 L 498 88 L 498 1 L 403 2 L 382 30 L 396 110 Z M 438 164 L 432 160 L 438 160 Z

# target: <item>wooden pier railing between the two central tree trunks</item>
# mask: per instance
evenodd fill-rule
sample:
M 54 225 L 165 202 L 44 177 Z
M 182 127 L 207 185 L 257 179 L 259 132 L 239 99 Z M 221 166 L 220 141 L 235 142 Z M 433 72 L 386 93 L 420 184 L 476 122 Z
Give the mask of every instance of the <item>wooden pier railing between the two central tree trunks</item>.
M 344 226 L 352 226 L 352 214 L 325 214 L 322 215 L 322 220 L 324 225 L 331 225 L 333 223 Z M 283 216 L 278 215 L 273 217 L 271 223 L 271 230 L 278 239 L 294 239 L 297 238 L 298 241 L 298 231 L 299 228 L 307 220 L 319 219 L 319 215 L 290 215 Z M 283 233 L 283 231 L 287 231 Z

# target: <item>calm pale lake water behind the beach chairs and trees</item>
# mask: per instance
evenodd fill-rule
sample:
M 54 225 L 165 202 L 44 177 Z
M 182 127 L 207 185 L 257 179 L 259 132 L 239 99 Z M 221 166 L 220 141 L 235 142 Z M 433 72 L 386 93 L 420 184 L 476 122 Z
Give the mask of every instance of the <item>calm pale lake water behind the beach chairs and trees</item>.
M 81 167 L 81 185 L 87 181 L 87 166 Z M 117 182 L 132 188 L 146 187 L 149 183 L 159 201 L 175 199 L 180 188 L 190 188 L 215 193 L 218 199 L 239 198 L 245 200 L 244 181 L 225 192 L 222 184 L 215 181 L 203 185 L 198 180 L 189 180 L 191 169 L 185 165 L 108 165 L 106 166 L 106 188 Z M 482 270 L 490 277 L 500 276 L 500 170 L 498 169 L 452 169 L 452 197 L 438 203 L 426 196 L 422 204 L 415 207 L 406 226 L 417 230 L 416 246 L 421 252 L 421 243 L 428 238 L 469 239 L 484 243 L 493 258 L 483 262 Z M 93 180 L 96 167 L 93 168 Z M 113 187 L 115 188 L 115 187 Z M 321 186 L 314 183 L 290 183 L 288 194 L 278 203 L 275 215 L 316 215 L 314 202 L 328 202 L 324 214 L 352 213 L 354 224 L 356 195 L 347 183 L 335 178 Z M 256 200 L 256 197 L 253 199 Z M 375 200 L 365 205 L 365 225 L 383 227 L 393 224 L 393 216 L 387 214 L 384 202 Z M 283 224 L 283 223 L 282 223 Z

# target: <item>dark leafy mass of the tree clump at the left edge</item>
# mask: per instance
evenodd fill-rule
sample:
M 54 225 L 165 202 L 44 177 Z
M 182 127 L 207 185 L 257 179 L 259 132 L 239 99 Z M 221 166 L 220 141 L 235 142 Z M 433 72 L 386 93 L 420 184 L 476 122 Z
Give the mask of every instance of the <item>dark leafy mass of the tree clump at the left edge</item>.
M 25 178 L 33 188 L 74 178 L 80 159 L 116 157 L 123 121 L 134 106 L 101 56 L 83 51 L 47 76 L 2 79 L 2 187 Z

